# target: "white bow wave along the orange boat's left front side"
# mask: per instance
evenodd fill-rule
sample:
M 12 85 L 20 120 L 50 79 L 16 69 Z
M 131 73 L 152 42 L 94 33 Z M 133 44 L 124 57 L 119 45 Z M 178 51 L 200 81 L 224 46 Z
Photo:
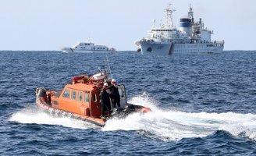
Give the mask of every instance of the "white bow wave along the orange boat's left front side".
M 89 122 L 84 122 L 81 120 L 69 118 L 55 118 L 54 116 L 51 116 L 46 112 L 42 112 L 41 110 L 34 108 L 25 108 L 20 112 L 14 113 L 9 121 L 20 123 L 59 125 L 76 129 L 89 129 L 97 127 Z

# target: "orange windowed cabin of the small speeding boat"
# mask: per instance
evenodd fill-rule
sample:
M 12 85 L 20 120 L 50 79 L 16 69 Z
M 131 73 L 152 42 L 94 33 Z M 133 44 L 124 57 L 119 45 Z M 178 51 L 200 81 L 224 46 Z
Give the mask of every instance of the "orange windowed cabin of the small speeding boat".
M 63 90 L 50 92 L 47 96 L 53 108 L 99 118 L 101 116 L 100 93 L 106 81 L 109 80 L 104 72 L 95 73 L 93 76 L 87 74 L 75 76 Z M 121 108 L 125 108 L 127 102 L 124 85 L 119 85 L 119 94 Z M 107 112 L 105 114 L 108 115 Z

